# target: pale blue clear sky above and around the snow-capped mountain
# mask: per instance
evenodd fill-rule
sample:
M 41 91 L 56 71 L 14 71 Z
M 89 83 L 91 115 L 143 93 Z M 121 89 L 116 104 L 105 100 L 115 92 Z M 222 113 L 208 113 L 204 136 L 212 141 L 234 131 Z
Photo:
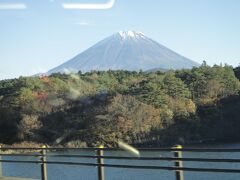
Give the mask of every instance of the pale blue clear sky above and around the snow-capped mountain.
M 141 31 L 199 63 L 240 63 L 239 0 L 116 0 L 109 9 L 63 8 L 108 2 L 0 0 L 0 79 L 47 71 L 120 30 Z

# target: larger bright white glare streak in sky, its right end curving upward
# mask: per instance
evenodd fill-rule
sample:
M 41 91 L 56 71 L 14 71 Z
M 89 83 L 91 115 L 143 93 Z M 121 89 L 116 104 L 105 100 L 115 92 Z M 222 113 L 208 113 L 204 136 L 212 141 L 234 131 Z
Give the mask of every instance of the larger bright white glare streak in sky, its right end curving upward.
M 110 9 L 114 6 L 115 0 L 107 3 L 63 3 L 65 9 Z

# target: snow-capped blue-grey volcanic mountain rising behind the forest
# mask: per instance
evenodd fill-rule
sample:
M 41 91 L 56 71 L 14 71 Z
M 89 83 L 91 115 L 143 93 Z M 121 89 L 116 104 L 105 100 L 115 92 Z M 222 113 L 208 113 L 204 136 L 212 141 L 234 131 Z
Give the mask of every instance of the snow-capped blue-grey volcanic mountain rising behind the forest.
M 151 71 L 189 69 L 198 63 L 168 49 L 137 31 L 109 36 L 47 74 L 92 70 Z

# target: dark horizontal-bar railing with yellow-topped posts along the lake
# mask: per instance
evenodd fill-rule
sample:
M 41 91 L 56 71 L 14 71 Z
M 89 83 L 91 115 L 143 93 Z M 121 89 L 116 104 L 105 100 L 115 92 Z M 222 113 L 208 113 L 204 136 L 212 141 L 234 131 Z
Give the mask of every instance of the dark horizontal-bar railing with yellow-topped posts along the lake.
M 14 151 L 38 151 L 35 154 L 26 153 L 4 153 L 5 150 Z M 95 155 L 81 155 L 81 154 L 48 154 L 47 151 L 66 151 L 66 150 L 85 150 L 85 151 L 96 151 Z M 182 157 L 183 152 L 239 152 L 240 149 L 222 149 L 222 148 L 182 148 L 181 146 L 175 146 L 173 148 L 139 148 L 140 151 L 162 151 L 162 152 L 172 152 L 172 157 L 135 157 L 135 156 L 109 156 L 104 155 L 105 151 L 119 151 L 118 148 L 14 148 L 14 147 L 0 147 L 0 176 L 2 176 L 2 163 L 31 163 L 41 165 L 41 179 L 47 180 L 47 164 L 57 164 L 57 165 L 79 165 L 79 166 L 90 166 L 97 167 L 98 169 L 98 179 L 104 180 L 104 167 L 111 168 L 128 168 L 128 169 L 152 169 L 152 170 L 168 170 L 174 171 L 176 180 L 184 180 L 184 171 L 193 172 L 223 172 L 223 173 L 240 173 L 240 169 L 230 169 L 230 168 L 202 168 L 202 167 L 186 167 L 184 166 L 185 161 L 189 162 L 217 162 L 217 163 L 240 163 L 240 159 L 233 158 L 189 158 Z M 12 157 L 39 157 L 39 160 L 9 160 L 2 159 L 2 156 L 12 156 Z M 69 158 L 84 158 L 84 159 L 96 159 L 95 163 L 89 162 L 68 162 L 68 161 L 52 161 L 47 160 L 47 157 L 69 157 Z M 158 166 L 158 165 L 129 165 L 129 164 L 113 164 L 104 163 L 104 159 L 115 159 L 115 160 L 151 160 L 151 161 L 170 161 L 173 162 L 174 166 Z

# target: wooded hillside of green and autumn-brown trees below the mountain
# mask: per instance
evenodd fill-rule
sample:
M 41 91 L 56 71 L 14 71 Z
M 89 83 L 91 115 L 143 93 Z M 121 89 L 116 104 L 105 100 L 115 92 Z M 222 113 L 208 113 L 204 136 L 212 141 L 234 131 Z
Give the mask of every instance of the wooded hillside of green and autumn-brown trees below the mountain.
M 0 143 L 67 147 L 240 140 L 240 67 L 0 81 Z

